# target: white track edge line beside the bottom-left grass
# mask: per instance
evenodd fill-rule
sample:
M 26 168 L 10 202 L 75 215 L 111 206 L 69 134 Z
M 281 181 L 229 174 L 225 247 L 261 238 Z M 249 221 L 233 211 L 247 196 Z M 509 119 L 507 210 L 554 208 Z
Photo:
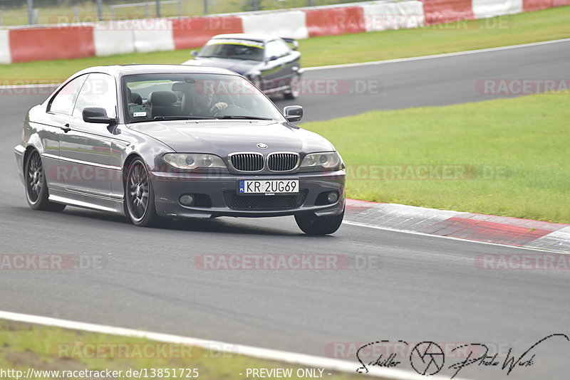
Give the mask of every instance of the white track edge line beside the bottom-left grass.
M 258 359 L 281 361 L 289 364 L 296 364 L 299 366 L 331 369 L 333 371 L 341 371 L 347 373 L 356 373 L 356 369 L 359 366 L 359 363 L 356 360 L 347 361 L 341 359 L 317 357 L 314 355 L 296 354 L 294 352 L 279 351 L 276 349 L 266 349 L 261 347 L 243 346 L 241 344 L 232 344 L 214 340 L 182 337 L 180 335 L 164 334 L 162 332 L 148 332 L 137 329 L 127 329 L 123 327 L 113 327 L 105 324 L 60 320 L 58 318 L 41 317 L 38 315 L 20 314 L 16 312 L 0 311 L 0 319 L 24 323 L 42 324 L 44 326 L 61 327 L 63 329 L 74 329 L 86 332 L 97 332 L 100 334 L 118 335 L 121 337 L 144 338 L 156 342 L 188 344 L 191 346 L 202 347 L 204 349 L 211 349 L 216 352 L 246 355 L 248 357 L 255 357 Z M 369 367 L 369 370 L 369 376 L 378 376 L 385 379 L 425 380 L 425 376 L 403 369 Z M 449 376 L 430 376 L 430 380 L 449 380 Z

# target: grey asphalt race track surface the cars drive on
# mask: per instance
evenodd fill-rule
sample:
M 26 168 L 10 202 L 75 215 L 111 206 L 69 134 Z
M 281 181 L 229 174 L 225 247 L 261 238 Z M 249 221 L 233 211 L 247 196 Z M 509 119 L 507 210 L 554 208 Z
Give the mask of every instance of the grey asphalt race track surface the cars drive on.
M 383 93 L 305 95 L 298 103 L 306 107 L 306 120 L 326 120 L 373 109 L 486 100 L 475 92 L 476 80 L 567 78 L 569 67 L 570 43 L 556 43 L 312 71 L 307 78 L 379 75 Z M 104 268 L 3 270 L 0 310 L 321 356 L 333 342 L 380 339 L 486 343 L 504 351 L 512 347 L 518 356 L 549 334 L 570 334 L 567 271 L 495 271 L 475 265 L 477 255 L 536 254 L 534 250 L 351 225 L 333 236 L 310 237 L 292 217 L 220 218 L 148 229 L 71 207 L 63 213 L 32 211 L 12 149 L 19 142 L 24 113 L 43 97 L 0 96 L 0 253 L 102 255 Z M 197 268 L 197 256 L 220 253 L 336 253 L 378 258 L 379 268 Z M 534 353 L 533 366 L 509 376 L 497 367 L 482 366 L 463 369 L 460 376 L 569 378 L 570 342 L 552 339 Z M 453 361 L 448 360 L 446 364 Z

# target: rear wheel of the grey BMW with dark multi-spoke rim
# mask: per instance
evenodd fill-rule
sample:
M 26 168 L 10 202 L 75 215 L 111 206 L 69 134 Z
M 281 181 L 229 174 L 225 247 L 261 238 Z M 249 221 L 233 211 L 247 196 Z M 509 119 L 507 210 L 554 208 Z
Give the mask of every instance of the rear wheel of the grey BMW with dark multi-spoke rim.
M 48 183 L 43 171 L 41 156 L 37 150 L 33 150 L 26 157 L 24 164 L 24 181 L 26 187 L 26 200 L 33 210 L 41 211 L 63 211 L 65 204 L 50 202 Z

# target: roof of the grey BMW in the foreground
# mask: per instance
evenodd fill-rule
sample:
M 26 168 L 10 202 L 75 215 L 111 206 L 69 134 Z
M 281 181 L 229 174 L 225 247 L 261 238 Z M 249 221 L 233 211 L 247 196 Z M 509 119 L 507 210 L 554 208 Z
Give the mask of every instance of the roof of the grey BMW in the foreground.
M 232 70 L 225 68 L 212 68 L 207 66 L 190 66 L 190 65 L 110 65 L 95 66 L 81 70 L 76 75 L 86 73 L 106 73 L 120 78 L 124 75 L 134 74 L 168 74 L 168 73 L 188 73 L 188 74 L 229 74 L 237 75 Z

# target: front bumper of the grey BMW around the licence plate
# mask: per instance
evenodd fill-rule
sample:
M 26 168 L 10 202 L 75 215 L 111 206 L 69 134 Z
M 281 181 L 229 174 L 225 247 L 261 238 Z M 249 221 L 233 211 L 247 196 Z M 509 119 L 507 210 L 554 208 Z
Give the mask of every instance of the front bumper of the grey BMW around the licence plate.
M 167 218 L 214 218 L 217 216 L 286 216 L 298 214 L 314 214 L 316 216 L 333 216 L 343 212 L 345 204 L 344 170 L 328 172 L 296 173 L 291 175 L 234 175 L 234 174 L 199 174 L 172 173 L 151 171 L 150 178 L 155 191 L 155 206 L 157 214 Z M 299 179 L 301 194 L 298 202 L 291 206 L 276 208 L 252 206 L 247 209 L 236 207 L 228 201 L 229 196 L 237 193 L 239 179 Z M 338 201 L 333 204 L 322 204 L 319 194 L 337 191 Z M 207 206 L 182 206 L 179 199 L 182 194 L 206 194 L 211 203 Z M 225 196 L 224 196 L 225 194 Z M 306 195 L 305 195 L 306 194 Z M 274 195 L 275 197 L 280 195 Z M 249 197 L 249 196 L 240 196 Z M 259 197 L 267 197 L 259 195 Z M 265 200 L 261 200 L 265 201 Z M 273 201 L 273 199 L 271 199 Z M 275 199 L 279 201 L 279 199 Z M 266 204 L 266 202 L 263 202 Z M 280 204 L 280 202 L 276 202 Z

